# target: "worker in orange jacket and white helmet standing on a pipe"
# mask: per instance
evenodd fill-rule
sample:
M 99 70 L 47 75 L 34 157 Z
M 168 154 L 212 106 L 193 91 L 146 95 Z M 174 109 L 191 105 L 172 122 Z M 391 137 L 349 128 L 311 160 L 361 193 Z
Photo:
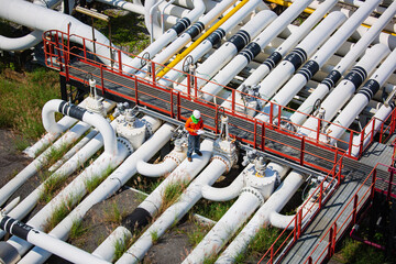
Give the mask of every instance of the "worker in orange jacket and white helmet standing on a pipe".
M 197 153 L 198 156 L 202 155 L 202 153 L 199 151 L 199 138 L 200 134 L 204 133 L 204 121 L 200 117 L 199 110 L 194 110 L 191 117 L 187 119 L 185 128 L 189 133 L 187 158 L 189 162 L 193 162 L 193 152 Z

